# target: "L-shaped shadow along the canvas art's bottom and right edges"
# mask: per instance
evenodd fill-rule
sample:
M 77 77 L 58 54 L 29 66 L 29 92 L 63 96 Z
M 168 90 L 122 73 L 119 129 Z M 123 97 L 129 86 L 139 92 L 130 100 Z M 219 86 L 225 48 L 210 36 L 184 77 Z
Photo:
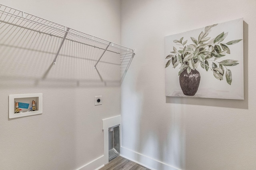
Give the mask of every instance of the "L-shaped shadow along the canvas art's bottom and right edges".
M 248 109 L 248 24 L 244 21 L 244 100 L 166 97 L 166 103 Z

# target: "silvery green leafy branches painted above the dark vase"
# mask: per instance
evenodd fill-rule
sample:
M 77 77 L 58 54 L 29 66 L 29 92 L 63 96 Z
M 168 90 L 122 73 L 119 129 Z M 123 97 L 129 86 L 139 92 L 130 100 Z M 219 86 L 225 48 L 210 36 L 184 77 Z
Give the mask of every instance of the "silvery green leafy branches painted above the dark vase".
M 180 65 L 180 71 L 178 73 L 178 75 L 180 75 L 184 70 L 186 70 L 189 74 L 191 70 L 198 68 L 200 65 L 206 71 L 208 71 L 210 68 L 214 77 L 218 80 L 223 80 L 223 75 L 226 72 L 226 81 L 231 85 L 232 73 L 227 67 L 236 66 L 239 64 L 238 61 L 230 59 L 223 61 L 218 60 L 220 60 L 221 57 L 230 54 L 228 45 L 239 43 L 242 39 L 223 43 L 222 41 L 224 41 L 224 39 L 227 37 L 228 32 L 222 32 L 214 39 L 207 37 L 211 31 L 211 28 L 216 25 L 217 24 L 205 27 L 204 31 L 202 31 L 198 36 L 198 39 L 190 37 L 193 41 L 193 44 L 186 45 L 188 40 L 183 41 L 184 37 L 182 37 L 180 40 L 174 40 L 173 42 L 179 46 L 179 49 L 173 47 L 173 51 L 170 52 L 171 54 L 166 57 L 168 61 L 165 65 L 165 68 L 168 67 L 171 63 L 173 68 L 176 68 L 178 65 Z M 212 64 L 209 65 L 209 63 Z

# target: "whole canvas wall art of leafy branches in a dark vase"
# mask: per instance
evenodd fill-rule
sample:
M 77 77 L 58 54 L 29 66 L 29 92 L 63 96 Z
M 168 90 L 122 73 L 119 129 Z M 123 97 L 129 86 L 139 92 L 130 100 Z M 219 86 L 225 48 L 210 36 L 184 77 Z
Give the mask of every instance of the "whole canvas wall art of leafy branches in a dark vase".
M 164 37 L 166 96 L 244 99 L 243 19 Z

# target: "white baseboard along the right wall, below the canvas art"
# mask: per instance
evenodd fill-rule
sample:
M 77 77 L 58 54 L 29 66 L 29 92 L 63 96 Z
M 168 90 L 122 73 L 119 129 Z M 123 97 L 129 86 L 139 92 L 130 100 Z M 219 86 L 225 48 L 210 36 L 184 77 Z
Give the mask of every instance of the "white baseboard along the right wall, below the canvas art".
M 138 152 L 135 152 L 133 150 L 130 150 L 125 147 L 121 147 L 121 154 L 120 156 L 131 160 L 137 164 L 140 164 L 142 166 L 145 166 L 146 168 L 149 168 L 151 170 L 181 170 L 179 168 L 176 168 L 172 165 L 168 165 L 164 162 L 161 162 L 159 160 L 156 160 L 154 158 L 150 158 L 149 156 L 140 154 Z

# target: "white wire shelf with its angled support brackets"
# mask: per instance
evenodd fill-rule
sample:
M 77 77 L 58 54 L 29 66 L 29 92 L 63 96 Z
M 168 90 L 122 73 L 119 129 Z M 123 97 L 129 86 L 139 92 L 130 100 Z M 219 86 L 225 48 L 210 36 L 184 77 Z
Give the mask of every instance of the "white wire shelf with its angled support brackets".
M 94 69 L 97 70 L 101 80 L 102 76 L 100 75 L 100 72 L 98 71 L 96 66 L 99 62 L 101 62 L 100 60 L 102 59 L 102 57 L 104 57 L 104 53 L 106 51 L 110 53 L 116 53 L 120 56 L 120 67 L 122 67 L 121 82 L 135 55 L 134 49 L 130 49 L 122 45 L 112 43 L 99 37 L 95 37 L 93 35 L 77 31 L 70 27 L 54 23 L 52 21 L 22 12 L 20 10 L 16 10 L 8 6 L 4 6 L 2 4 L 0 4 L 0 23 L 0 29 L 6 29 L 6 25 L 10 25 L 12 27 L 19 27 L 21 29 L 26 29 L 34 31 L 36 33 L 54 36 L 62 39 L 58 51 L 56 51 L 56 55 L 53 61 L 54 65 L 56 64 L 56 59 L 58 57 L 60 49 L 62 48 L 64 41 L 72 41 L 75 43 L 101 49 L 103 52 L 99 56 L 98 61 L 94 65 Z M 122 66 L 122 63 L 123 61 L 125 61 L 126 56 L 128 57 L 129 61 L 125 62 L 126 66 Z

